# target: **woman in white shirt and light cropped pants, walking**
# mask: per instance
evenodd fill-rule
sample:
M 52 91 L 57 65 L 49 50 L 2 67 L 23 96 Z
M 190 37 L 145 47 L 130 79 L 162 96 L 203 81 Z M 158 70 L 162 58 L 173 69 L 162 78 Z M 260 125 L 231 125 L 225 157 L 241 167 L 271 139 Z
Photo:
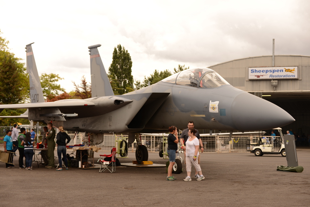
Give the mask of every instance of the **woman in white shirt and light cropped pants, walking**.
M 200 165 L 198 164 L 197 156 L 199 155 L 199 140 L 195 136 L 196 130 L 189 129 L 188 130 L 188 139 L 186 141 L 186 172 L 187 177 L 184 181 L 191 181 L 191 171 L 192 171 L 192 164 L 194 165 L 196 171 L 198 172 L 199 177 L 197 178 L 198 181 L 205 179 L 202 175 Z

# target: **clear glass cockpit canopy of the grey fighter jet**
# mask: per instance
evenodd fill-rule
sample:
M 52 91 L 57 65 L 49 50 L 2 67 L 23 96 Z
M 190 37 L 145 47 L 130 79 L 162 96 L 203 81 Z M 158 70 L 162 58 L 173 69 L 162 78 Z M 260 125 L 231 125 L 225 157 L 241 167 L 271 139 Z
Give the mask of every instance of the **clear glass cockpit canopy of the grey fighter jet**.
M 216 88 L 222 85 L 230 85 L 223 77 L 210 68 L 183 70 L 163 79 L 162 81 L 196 88 Z

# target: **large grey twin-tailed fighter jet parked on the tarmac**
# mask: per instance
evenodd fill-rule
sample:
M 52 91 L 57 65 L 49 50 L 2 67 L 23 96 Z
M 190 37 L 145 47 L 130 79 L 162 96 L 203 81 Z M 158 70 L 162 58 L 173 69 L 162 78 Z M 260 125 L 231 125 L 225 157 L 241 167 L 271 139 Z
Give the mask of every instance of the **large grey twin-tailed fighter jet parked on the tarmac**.
M 94 143 L 100 143 L 104 133 L 129 133 L 129 143 L 137 139 L 138 162 L 148 159 L 139 133 L 166 132 L 169 126 L 185 128 L 189 120 L 194 121 L 196 129 L 229 130 L 231 134 L 272 129 L 295 121 L 282 108 L 231 86 L 209 68 L 187 69 L 143 89 L 114 95 L 98 51 L 100 46 L 88 47 L 92 98 L 40 103 L 43 95 L 38 93 L 37 84 L 31 92 L 37 93 L 31 95 L 34 103 L 0 105 L 0 111 L 27 108 L 29 120 L 52 121 L 65 130 L 93 133 Z M 27 71 L 34 73 L 31 44 L 26 49 Z

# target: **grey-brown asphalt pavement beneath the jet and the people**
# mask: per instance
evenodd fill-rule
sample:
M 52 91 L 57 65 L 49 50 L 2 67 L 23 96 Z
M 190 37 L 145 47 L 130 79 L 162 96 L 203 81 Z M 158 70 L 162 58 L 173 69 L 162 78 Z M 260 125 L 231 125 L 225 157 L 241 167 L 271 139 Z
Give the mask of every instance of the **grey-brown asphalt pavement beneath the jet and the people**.
M 95 153 L 95 162 L 99 154 Z M 55 151 L 55 155 L 56 155 Z M 135 153 L 120 158 L 135 160 Z M 184 156 L 184 155 L 182 155 Z M 5 168 L 0 162 L 0 206 L 310 206 L 310 150 L 297 150 L 302 173 L 277 171 L 287 165 L 281 155 L 250 152 L 202 153 L 201 169 L 206 179 L 166 181 L 166 168 L 116 168 L 116 173 L 98 169 L 56 171 L 37 164 L 33 170 Z M 149 159 L 166 164 L 158 153 Z M 92 161 L 92 159 L 89 159 Z M 14 157 L 18 166 L 18 156 Z M 184 163 L 184 161 L 183 161 Z

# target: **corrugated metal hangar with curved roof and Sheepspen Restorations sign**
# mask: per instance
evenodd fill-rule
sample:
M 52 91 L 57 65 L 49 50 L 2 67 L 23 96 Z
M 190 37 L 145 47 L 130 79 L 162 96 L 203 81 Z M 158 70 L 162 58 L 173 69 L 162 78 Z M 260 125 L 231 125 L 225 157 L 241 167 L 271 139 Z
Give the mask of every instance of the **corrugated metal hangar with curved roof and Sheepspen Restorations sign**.
M 232 86 L 290 113 L 296 121 L 283 126 L 283 132 L 292 129 L 299 135 L 310 134 L 310 56 L 264 55 L 235 59 L 208 68 L 218 72 Z

